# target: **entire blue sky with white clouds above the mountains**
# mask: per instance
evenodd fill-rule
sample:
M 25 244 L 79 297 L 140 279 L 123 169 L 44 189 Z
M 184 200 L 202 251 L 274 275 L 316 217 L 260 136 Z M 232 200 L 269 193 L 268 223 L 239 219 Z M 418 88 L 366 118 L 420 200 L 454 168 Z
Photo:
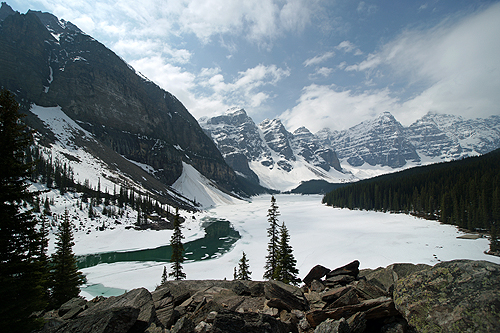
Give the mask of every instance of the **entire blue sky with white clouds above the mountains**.
M 316 132 L 500 114 L 499 1 L 6 1 L 76 24 L 196 118 L 241 107 Z

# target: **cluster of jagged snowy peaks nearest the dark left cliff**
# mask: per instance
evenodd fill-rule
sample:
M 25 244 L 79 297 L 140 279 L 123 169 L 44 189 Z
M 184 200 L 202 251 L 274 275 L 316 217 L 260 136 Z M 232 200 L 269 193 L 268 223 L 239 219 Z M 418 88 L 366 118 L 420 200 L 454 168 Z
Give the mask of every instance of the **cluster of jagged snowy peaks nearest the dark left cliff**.
M 256 125 L 242 109 L 200 119 L 200 125 L 237 173 L 264 187 L 289 190 L 306 180 L 349 177 L 340 172 L 335 152 L 306 128 L 292 134 L 279 119 Z

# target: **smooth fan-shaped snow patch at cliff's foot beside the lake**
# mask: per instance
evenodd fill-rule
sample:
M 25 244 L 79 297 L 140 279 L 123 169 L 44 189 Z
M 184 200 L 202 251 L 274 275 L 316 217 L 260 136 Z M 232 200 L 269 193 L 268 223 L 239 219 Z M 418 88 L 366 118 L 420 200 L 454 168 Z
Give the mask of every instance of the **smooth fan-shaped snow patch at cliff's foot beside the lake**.
M 241 201 L 217 189 L 211 180 L 185 162 L 182 162 L 181 176 L 172 187 L 183 196 L 200 204 L 203 208 L 229 205 Z

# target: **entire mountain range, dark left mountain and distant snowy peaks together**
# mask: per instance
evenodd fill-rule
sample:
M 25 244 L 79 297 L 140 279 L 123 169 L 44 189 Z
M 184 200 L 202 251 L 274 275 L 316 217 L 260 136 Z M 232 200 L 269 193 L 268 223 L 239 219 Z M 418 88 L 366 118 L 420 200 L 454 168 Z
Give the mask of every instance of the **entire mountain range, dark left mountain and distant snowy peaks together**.
M 185 208 L 309 180 L 356 181 L 500 146 L 500 116 L 428 113 L 405 127 L 386 112 L 314 134 L 305 127 L 289 132 L 279 119 L 256 124 L 240 108 L 197 121 L 175 96 L 71 22 L 20 14 L 6 3 L 0 86 L 16 95 L 40 133 L 38 144 L 94 184 L 135 187 Z M 103 167 L 86 173 L 86 161 L 89 170 Z

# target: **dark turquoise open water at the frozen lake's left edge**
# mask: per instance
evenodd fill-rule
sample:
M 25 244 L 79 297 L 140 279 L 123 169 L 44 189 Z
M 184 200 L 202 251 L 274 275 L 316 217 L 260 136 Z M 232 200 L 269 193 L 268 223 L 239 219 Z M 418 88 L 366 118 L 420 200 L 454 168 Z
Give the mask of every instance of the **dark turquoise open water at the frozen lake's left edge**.
M 204 218 L 202 227 L 205 229 L 205 237 L 183 244 L 184 262 L 220 257 L 231 250 L 233 244 L 241 238 L 239 232 L 226 220 Z M 170 243 L 170 239 L 166 242 Z M 171 255 L 170 245 L 164 245 L 154 249 L 88 254 L 78 256 L 77 260 L 78 268 L 82 269 L 103 263 L 125 261 L 169 262 Z

